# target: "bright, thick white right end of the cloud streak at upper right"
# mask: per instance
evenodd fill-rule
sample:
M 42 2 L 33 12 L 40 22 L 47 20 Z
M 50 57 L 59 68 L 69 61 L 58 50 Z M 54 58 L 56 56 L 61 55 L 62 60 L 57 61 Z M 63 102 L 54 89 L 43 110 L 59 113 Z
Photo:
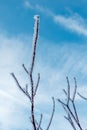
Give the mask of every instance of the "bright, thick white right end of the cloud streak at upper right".
M 72 16 L 55 15 L 53 17 L 54 21 L 66 29 L 76 32 L 77 34 L 82 34 L 87 36 L 87 24 L 86 20 L 83 19 L 78 14 L 73 14 Z

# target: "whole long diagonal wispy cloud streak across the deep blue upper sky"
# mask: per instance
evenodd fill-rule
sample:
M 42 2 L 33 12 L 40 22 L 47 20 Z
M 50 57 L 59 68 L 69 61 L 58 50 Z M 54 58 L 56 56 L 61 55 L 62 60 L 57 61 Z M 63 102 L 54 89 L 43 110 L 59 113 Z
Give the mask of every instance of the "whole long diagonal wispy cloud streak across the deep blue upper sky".
M 26 6 L 28 5 L 28 1 L 25 1 Z M 30 3 L 29 3 L 30 5 Z M 28 7 L 28 6 L 27 6 Z M 77 34 L 81 34 L 83 36 L 87 36 L 87 20 L 81 17 L 78 13 L 73 13 L 72 15 L 61 15 L 55 14 L 48 8 L 43 8 L 42 6 L 36 4 L 31 6 L 34 10 L 39 10 L 40 12 L 44 13 L 45 15 L 52 18 L 52 20 L 60 24 L 61 26 L 65 27 L 65 29 L 75 32 Z

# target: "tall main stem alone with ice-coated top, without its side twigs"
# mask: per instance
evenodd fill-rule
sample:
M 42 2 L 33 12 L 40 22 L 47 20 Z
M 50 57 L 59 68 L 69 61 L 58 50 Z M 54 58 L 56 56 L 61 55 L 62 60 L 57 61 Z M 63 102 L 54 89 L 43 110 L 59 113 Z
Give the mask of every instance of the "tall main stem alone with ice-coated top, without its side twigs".
M 34 130 L 36 130 L 36 123 L 35 123 L 35 114 L 34 114 L 34 95 L 36 92 L 34 92 L 34 81 L 33 81 L 33 68 L 35 63 L 35 56 L 36 56 L 36 44 L 38 39 L 38 28 L 39 28 L 39 16 L 35 15 L 35 25 L 34 25 L 34 35 L 33 35 L 33 54 L 32 54 L 32 61 L 31 61 L 31 67 L 30 67 L 30 83 L 31 83 L 31 117 L 32 117 L 32 124 Z M 36 88 L 35 88 L 36 90 Z

